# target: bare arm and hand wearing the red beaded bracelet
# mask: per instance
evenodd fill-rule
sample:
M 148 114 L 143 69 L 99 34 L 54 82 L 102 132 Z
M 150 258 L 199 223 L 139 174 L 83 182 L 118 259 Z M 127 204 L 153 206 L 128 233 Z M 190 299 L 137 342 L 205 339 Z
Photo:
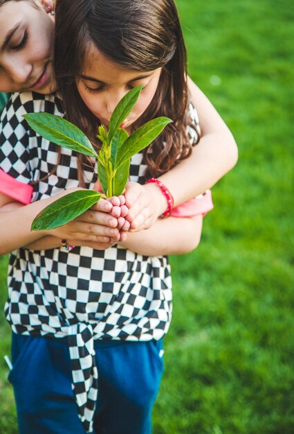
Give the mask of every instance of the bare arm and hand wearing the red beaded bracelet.
M 175 206 L 210 189 L 238 159 L 237 145 L 226 123 L 190 78 L 188 85 L 191 101 L 199 114 L 201 139 L 189 158 L 158 177 L 172 193 Z M 127 186 L 126 198 L 131 228 L 140 230 L 154 223 L 167 208 L 167 202 L 156 185 L 134 184 Z

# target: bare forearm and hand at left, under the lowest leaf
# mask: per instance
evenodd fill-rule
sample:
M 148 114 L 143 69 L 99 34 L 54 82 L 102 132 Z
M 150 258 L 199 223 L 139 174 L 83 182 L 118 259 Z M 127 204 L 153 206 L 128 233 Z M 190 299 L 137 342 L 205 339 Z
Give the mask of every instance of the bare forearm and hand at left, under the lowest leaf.
M 0 193 L 0 255 L 25 246 L 35 249 L 55 248 L 61 244 L 62 238 L 71 244 L 89 245 L 98 249 L 116 243 L 120 239 L 118 219 L 108 214 L 112 205 L 102 199 L 91 210 L 67 225 L 50 231 L 30 230 L 33 219 L 42 209 L 70 191 L 73 189 L 30 205 L 21 205 Z

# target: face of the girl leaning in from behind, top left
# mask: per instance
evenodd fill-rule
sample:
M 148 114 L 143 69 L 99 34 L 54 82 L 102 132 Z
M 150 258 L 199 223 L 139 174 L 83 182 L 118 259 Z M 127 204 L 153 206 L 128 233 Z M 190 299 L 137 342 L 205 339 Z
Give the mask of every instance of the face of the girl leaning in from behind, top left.
M 54 21 L 39 2 L 0 7 L 0 92 L 54 90 Z

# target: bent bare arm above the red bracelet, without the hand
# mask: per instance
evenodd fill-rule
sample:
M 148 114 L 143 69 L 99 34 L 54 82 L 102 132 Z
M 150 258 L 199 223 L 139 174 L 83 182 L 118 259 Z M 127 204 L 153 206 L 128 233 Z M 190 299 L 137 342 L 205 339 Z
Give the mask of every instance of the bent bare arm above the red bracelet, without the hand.
M 210 189 L 235 166 L 238 159 L 237 145 L 226 123 L 190 78 L 188 85 L 191 101 L 199 114 L 202 134 L 191 157 L 160 177 L 172 191 L 175 205 Z

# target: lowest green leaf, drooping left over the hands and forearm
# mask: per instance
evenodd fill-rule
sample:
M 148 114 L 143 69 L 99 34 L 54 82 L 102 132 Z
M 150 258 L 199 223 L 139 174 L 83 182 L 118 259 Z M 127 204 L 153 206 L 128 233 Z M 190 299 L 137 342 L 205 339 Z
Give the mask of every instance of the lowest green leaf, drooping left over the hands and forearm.
M 78 190 L 68 193 L 43 209 L 33 220 L 30 229 L 41 231 L 66 225 L 91 208 L 100 198 L 101 193 L 95 190 Z

